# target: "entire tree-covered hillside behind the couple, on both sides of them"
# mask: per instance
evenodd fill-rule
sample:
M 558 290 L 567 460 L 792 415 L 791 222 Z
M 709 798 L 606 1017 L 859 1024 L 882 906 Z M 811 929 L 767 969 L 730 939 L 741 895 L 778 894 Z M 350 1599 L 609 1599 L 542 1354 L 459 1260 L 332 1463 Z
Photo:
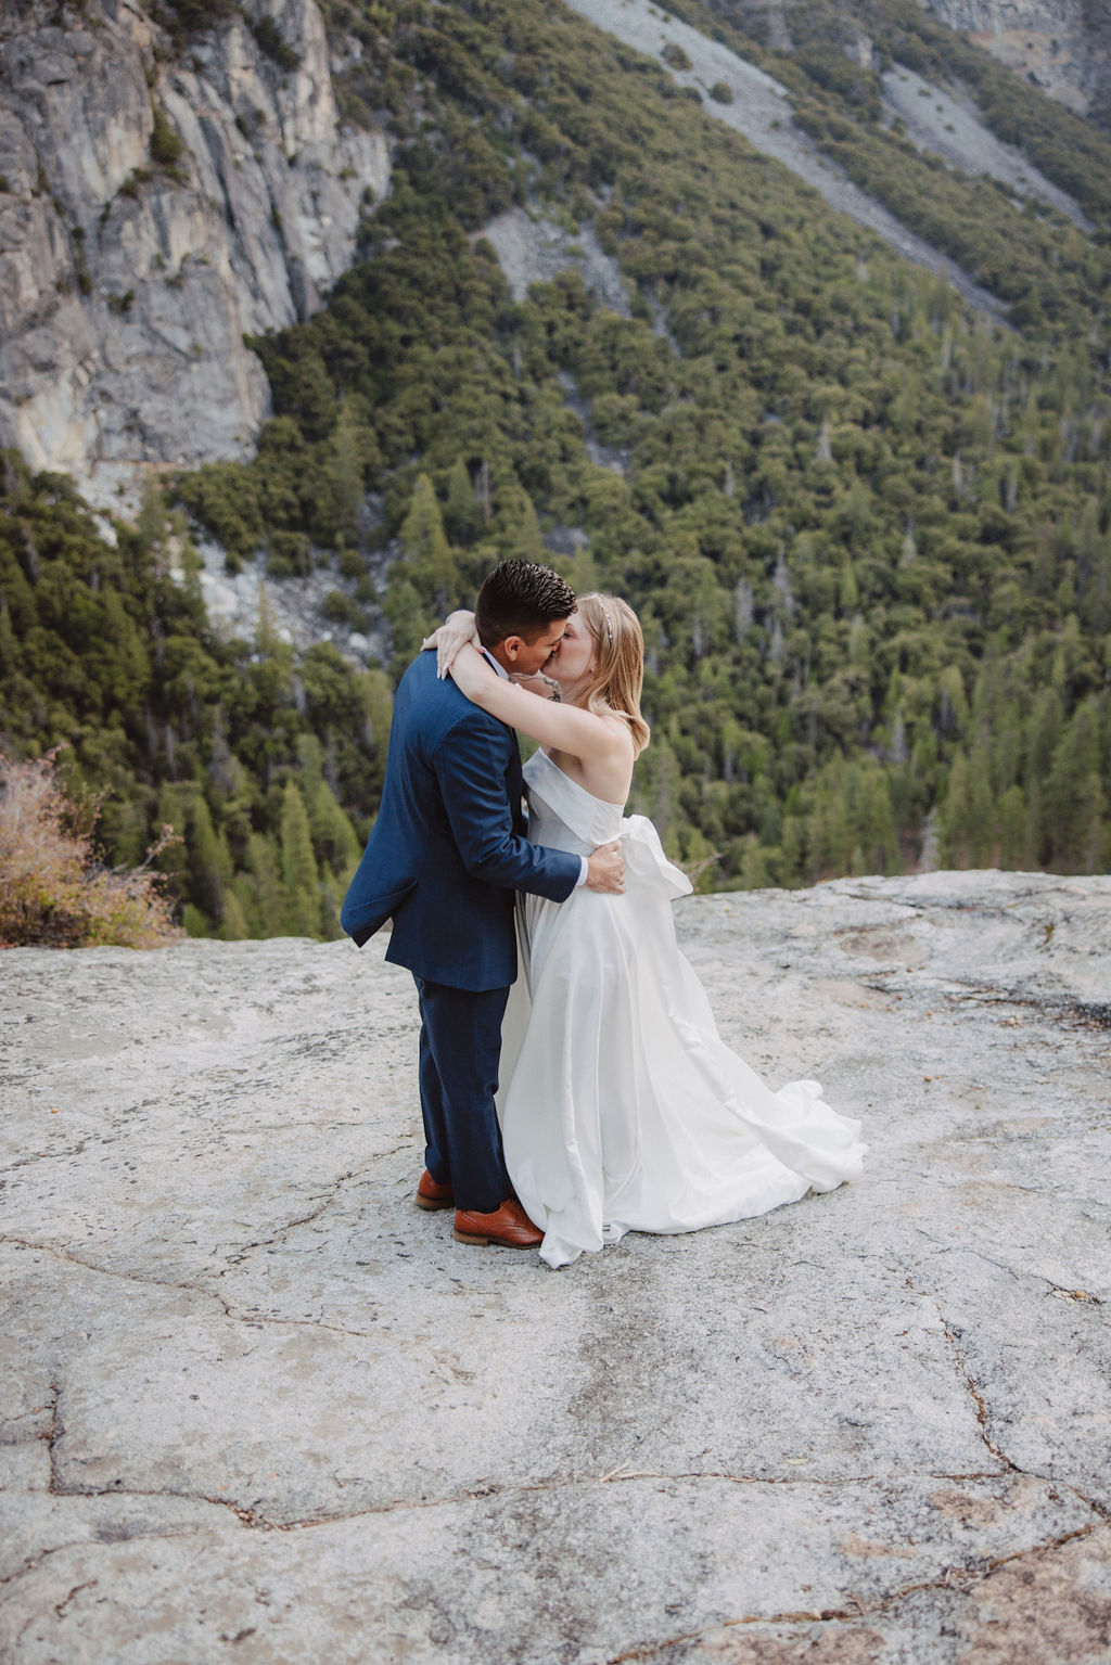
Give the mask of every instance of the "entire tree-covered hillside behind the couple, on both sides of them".
M 393 188 L 328 306 L 255 343 L 275 398 L 258 458 L 182 476 L 178 503 L 275 579 L 338 556 L 351 604 L 390 621 L 393 674 L 505 554 L 628 596 L 653 723 L 636 808 L 706 864 L 703 884 L 1106 866 L 1111 148 L 954 37 L 946 60 L 951 37 L 909 3 L 816 5 L 813 50 L 790 57 L 736 35 L 726 0 L 673 10 L 790 85 L 815 140 L 1008 303 L 1009 326 L 561 7 L 331 0 L 341 97 L 355 118 L 388 113 Z M 884 127 L 876 72 L 838 35 L 864 12 L 879 52 L 963 77 L 1094 230 Z M 515 303 L 481 235 L 513 203 L 591 226 L 628 316 L 573 271 Z M 113 551 L 57 481 L 8 481 L 15 743 L 77 718 L 82 776 L 117 788 L 117 859 L 185 819 L 190 929 L 290 927 L 313 886 L 326 929 L 380 783 L 385 674 L 323 646 L 295 664 L 273 636 L 218 643 L 167 576 L 162 508 Z M 43 543 L 52 583 L 100 621 L 87 646 L 43 598 Z M 376 589 L 383 551 L 398 559 Z M 93 671 L 108 628 L 127 651 L 97 649 Z

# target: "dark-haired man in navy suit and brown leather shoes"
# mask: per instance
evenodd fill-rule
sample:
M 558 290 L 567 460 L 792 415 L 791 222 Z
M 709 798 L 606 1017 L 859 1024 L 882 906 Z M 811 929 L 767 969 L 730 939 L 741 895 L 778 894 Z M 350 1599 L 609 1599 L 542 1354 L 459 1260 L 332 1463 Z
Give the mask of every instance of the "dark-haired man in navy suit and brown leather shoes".
M 475 624 L 500 676 L 533 676 L 556 653 L 575 591 L 546 566 L 503 561 L 478 591 Z M 495 1111 L 501 1019 L 516 976 L 513 894 L 563 902 L 578 884 L 621 891 L 616 844 L 593 856 L 525 837 L 513 729 L 436 678 L 421 653 L 393 706 L 381 808 L 340 924 L 361 947 L 393 919 L 386 959 L 420 1001 L 423 1209 L 455 1207 L 455 1237 L 531 1249 L 540 1232 L 513 1195 Z

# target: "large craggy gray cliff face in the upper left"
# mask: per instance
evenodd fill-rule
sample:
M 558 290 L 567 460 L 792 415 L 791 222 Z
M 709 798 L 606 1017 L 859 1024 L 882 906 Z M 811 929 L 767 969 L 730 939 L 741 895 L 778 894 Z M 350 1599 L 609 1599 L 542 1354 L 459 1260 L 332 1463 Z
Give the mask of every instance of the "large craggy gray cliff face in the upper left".
M 0 443 L 95 501 L 250 453 L 270 390 L 243 335 L 320 305 L 388 188 L 383 135 L 340 127 L 315 0 L 245 10 L 183 62 L 132 0 L 0 22 Z

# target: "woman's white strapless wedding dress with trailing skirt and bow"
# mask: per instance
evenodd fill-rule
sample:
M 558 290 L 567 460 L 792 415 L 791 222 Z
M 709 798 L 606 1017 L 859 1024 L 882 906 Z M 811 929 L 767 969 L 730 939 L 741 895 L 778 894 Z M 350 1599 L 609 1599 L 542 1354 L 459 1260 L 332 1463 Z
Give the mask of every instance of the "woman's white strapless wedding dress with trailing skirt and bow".
M 566 1265 L 628 1230 L 721 1225 L 856 1179 L 859 1122 L 816 1081 L 771 1092 L 720 1039 L 675 937 L 671 901 L 691 886 L 651 821 L 543 751 L 525 779 L 533 842 L 586 856 L 620 837 L 626 882 L 625 896 L 518 897 L 498 1111 L 541 1259 Z

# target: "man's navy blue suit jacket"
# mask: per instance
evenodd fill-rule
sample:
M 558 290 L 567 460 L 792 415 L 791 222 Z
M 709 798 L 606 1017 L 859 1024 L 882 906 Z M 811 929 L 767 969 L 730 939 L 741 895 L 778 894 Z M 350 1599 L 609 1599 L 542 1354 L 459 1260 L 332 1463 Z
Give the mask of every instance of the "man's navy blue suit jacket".
M 386 959 L 456 989 L 516 977 L 513 892 L 563 902 L 578 856 L 525 837 L 513 729 L 436 678 L 421 653 L 393 704 L 381 808 L 340 924 L 361 947 L 393 919 Z

